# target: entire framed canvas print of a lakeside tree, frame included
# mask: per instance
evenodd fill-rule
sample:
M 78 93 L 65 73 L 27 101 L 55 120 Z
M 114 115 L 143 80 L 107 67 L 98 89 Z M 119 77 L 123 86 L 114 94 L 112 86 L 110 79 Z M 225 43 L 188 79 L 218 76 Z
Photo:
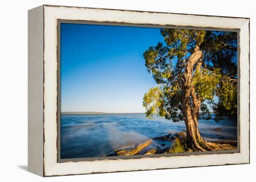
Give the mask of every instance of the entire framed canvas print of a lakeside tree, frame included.
M 249 163 L 249 18 L 28 11 L 28 170 Z

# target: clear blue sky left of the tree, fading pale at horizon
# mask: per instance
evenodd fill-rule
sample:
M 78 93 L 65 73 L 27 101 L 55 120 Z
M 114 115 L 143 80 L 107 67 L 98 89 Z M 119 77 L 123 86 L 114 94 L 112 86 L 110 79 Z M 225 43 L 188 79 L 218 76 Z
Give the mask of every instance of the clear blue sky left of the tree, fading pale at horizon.
M 61 23 L 61 111 L 145 112 L 143 52 L 158 42 L 159 28 Z

